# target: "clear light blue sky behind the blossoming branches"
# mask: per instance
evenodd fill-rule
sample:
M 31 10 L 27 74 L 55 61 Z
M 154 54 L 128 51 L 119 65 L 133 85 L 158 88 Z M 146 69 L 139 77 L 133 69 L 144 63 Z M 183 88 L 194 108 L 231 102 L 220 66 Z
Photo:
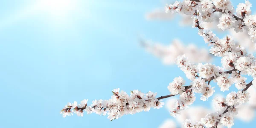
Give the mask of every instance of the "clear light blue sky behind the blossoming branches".
M 145 13 L 167 1 L 72 1 L 52 6 L 58 3 L 0 0 L 0 128 L 157 128 L 172 118 L 166 108 L 112 122 L 94 113 L 66 118 L 59 114 L 67 102 L 109 99 L 114 88 L 167 95 L 169 82 L 185 78 L 176 65 L 165 66 L 146 53 L 138 35 L 164 44 L 179 38 L 209 49 L 197 29 L 180 27 L 179 20 L 145 20 Z M 244 0 L 233 0 L 239 2 Z M 256 1 L 250 2 L 255 12 Z M 220 59 L 213 63 L 220 64 Z M 211 100 L 197 97 L 195 105 L 210 107 Z M 256 119 L 236 120 L 233 128 L 253 125 Z

